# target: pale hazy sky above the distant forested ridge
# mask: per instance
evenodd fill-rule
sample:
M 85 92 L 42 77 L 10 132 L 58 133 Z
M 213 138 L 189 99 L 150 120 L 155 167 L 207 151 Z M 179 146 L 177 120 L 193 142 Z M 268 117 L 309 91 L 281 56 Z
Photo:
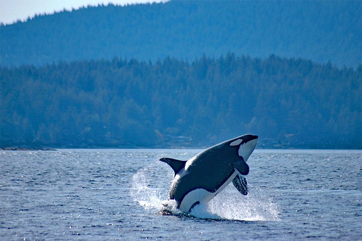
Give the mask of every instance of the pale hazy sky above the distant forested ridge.
M 71 10 L 81 6 L 108 3 L 125 5 L 145 2 L 161 2 L 164 0 L 0 0 L 0 22 L 9 24 L 16 20 L 26 20 L 40 13 L 53 13 L 64 8 Z

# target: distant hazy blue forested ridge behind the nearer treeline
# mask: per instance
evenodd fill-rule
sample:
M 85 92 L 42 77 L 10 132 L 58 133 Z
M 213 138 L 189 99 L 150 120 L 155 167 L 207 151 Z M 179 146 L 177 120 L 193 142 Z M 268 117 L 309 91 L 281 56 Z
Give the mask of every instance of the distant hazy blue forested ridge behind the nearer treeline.
M 60 60 L 193 61 L 228 52 L 339 67 L 362 61 L 362 1 L 171 1 L 87 7 L 0 26 L 2 66 Z

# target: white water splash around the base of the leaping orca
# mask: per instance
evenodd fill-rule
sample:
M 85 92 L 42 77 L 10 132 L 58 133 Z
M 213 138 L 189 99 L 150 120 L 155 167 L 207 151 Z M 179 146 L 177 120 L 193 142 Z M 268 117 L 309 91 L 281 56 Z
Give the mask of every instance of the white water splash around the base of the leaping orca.
M 152 167 L 138 171 L 133 175 L 131 195 L 145 210 L 152 213 L 170 213 L 183 215 L 177 209 L 174 200 L 167 200 L 170 183 L 162 183 Z M 170 177 L 170 180 L 172 176 Z M 160 188 L 162 185 L 163 187 Z M 206 205 L 197 205 L 191 210 L 190 216 L 202 219 L 223 219 L 241 221 L 279 221 L 280 209 L 269 193 L 249 186 L 249 194 L 241 195 L 233 185 L 228 185 Z

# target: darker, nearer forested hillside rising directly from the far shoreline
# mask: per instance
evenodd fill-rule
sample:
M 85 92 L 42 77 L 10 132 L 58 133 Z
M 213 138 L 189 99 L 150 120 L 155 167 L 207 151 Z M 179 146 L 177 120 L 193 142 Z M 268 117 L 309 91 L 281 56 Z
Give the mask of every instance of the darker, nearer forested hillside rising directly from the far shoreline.
M 1 147 L 201 147 L 250 132 L 259 148 L 362 148 L 361 65 L 228 54 L 0 70 Z

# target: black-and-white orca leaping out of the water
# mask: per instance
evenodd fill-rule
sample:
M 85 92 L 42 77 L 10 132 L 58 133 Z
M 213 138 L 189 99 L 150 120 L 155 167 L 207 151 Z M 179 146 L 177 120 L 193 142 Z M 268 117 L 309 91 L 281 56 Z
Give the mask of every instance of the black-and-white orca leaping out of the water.
M 246 164 L 255 149 L 258 136 L 246 134 L 212 146 L 188 161 L 161 158 L 175 171 L 168 199 L 187 213 L 197 204 L 206 204 L 231 181 L 247 194 Z

